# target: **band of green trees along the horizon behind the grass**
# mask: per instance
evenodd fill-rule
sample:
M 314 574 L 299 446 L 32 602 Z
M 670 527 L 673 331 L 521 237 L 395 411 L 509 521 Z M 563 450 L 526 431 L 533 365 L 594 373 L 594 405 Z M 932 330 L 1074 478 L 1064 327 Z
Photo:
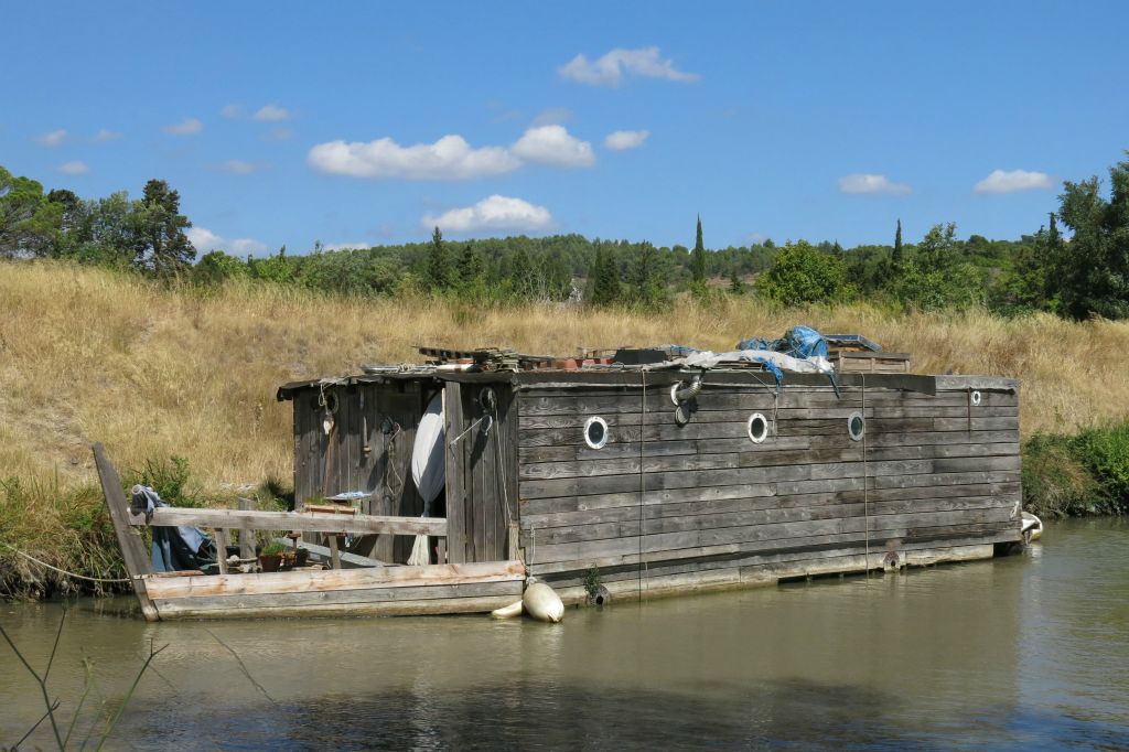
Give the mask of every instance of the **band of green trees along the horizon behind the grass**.
M 654 309 L 679 294 L 752 295 L 782 305 L 867 299 L 901 308 L 986 306 L 1017 315 L 1129 317 L 1129 161 L 1110 168 L 1109 196 L 1095 176 L 1064 184 L 1056 211 L 1018 241 L 956 237 L 939 224 L 904 243 L 843 248 L 771 239 L 707 250 L 698 218 L 693 248 L 583 235 L 430 241 L 305 254 L 239 257 L 194 248 L 180 195 L 151 180 L 84 200 L 0 167 L 0 257 L 62 259 L 175 277 L 199 285 L 231 278 L 344 295 L 428 294 L 476 303 L 574 301 Z M 1069 231 L 1067 237 L 1061 230 Z M 202 252 L 199 260 L 196 254 Z

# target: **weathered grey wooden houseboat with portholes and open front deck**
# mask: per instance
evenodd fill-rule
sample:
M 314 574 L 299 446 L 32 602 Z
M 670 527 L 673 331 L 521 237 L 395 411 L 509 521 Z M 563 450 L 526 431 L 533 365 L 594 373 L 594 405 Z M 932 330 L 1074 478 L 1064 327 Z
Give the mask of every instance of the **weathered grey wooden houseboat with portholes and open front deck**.
M 874 373 L 858 356 L 831 379 L 778 383 L 745 362 L 426 352 L 428 366 L 279 388 L 294 511 L 161 508 L 147 523 L 111 498 L 96 452 L 146 615 L 484 612 L 527 576 L 566 602 L 596 580 L 633 598 L 984 559 L 1021 540 L 1014 379 Z M 436 403 L 443 488 L 425 509 L 412 455 Z M 227 531 L 304 531 L 332 566 L 161 576 L 131 534 L 143 524 L 207 525 L 221 550 Z M 419 535 L 428 561 L 409 565 Z

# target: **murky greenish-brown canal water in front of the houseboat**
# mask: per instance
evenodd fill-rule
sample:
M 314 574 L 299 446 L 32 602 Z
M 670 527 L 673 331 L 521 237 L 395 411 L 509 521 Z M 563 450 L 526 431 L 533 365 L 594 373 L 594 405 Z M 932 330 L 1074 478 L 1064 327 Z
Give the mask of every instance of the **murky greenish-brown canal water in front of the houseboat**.
M 111 749 L 1129 749 L 1129 524 L 1023 556 L 603 609 L 147 624 L 80 601 L 50 677 L 69 722 L 167 645 Z M 5 604 L 43 666 L 59 604 Z M 237 657 L 236 657 L 237 656 Z M 0 747 L 42 715 L 0 644 Z M 87 735 L 84 714 L 76 737 Z M 32 737 L 50 749 L 46 726 Z

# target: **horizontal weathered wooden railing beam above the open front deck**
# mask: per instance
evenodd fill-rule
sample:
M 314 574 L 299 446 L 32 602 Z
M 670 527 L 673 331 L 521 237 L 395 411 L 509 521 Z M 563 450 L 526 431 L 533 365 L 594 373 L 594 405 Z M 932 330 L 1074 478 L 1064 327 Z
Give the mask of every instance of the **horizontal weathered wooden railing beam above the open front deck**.
M 447 535 L 443 517 L 326 515 L 313 511 L 257 511 L 247 509 L 186 509 L 159 507 L 148 523 L 130 515 L 131 525 L 224 527 L 226 530 L 292 530 L 306 533 L 386 533 L 391 535 Z

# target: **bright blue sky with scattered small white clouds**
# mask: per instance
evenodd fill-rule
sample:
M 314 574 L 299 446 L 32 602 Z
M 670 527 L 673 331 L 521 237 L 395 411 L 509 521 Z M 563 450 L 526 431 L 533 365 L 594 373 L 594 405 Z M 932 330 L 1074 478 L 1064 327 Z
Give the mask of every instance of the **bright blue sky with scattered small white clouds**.
M 1129 148 L 1123 2 L 25 3 L 0 164 L 199 250 L 1015 238 Z M 581 56 L 583 55 L 583 56 Z M 979 186 L 979 187 L 978 187 Z

